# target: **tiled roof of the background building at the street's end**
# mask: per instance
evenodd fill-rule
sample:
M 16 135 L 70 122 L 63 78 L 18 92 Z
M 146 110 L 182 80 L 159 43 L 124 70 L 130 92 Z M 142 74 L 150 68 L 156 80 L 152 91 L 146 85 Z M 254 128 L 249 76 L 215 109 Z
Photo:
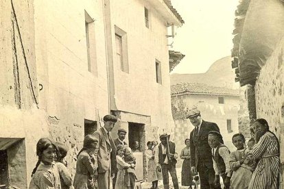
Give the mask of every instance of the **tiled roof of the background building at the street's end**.
M 186 93 L 200 95 L 239 96 L 239 90 L 209 86 L 206 84 L 180 83 L 171 86 L 171 95 L 181 95 Z

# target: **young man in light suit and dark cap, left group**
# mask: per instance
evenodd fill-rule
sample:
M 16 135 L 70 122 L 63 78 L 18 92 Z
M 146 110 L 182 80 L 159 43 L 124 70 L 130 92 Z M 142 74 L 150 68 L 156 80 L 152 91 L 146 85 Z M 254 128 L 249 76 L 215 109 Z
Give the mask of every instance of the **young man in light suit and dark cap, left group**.
M 99 151 L 97 152 L 98 160 L 98 179 L 97 185 L 99 188 L 110 188 L 110 177 L 113 177 L 114 173 L 111 173 L 115 164 L 116 147 L 113 139 L 110 136 L 110 132 L 117 123 L 117 117 L 113 115 L 104 116 L 104 127 L 97 129 L 93 133 L 98 140 Z

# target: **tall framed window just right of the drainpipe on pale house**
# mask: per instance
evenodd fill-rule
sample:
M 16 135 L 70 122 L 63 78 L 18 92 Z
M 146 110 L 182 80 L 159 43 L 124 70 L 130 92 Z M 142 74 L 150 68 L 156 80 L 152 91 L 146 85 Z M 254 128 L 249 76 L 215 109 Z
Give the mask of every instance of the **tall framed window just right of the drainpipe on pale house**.
M 115 51 L 117 66 L 121 71 L 129 73 L 127 34 L 117 26 L 115 26 Z

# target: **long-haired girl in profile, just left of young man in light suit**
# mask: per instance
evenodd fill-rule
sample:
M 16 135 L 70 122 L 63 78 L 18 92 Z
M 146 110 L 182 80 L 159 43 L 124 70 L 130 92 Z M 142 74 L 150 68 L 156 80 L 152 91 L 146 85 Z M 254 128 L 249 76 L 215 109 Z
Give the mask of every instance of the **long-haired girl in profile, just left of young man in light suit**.
M 95 149 L 97 149 L 97 138 L 93 135 L 87 135 L 84 138 L 84 144 L 78 153 L 76 163 L 76 173 L 73 186 L 75 189 L 96 189 L 94 175 L 97 167 L 95 167 Z

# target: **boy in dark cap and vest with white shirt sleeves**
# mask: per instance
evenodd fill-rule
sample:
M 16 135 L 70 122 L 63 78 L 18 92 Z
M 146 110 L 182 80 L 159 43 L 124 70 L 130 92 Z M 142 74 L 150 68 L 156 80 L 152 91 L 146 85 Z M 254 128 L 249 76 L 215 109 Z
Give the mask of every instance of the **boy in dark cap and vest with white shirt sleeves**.
M 232 171 L 230 170 L 230 151 L 220 142 L 222 135 L 217 131 L 209 131 L 208 143 L 212 149 L 213 167 L 215 170 L 214 184 L 217 188 L 220 188 L 220 176 L 224 182 L 224 189 L 230 188 L 230 176 Z

